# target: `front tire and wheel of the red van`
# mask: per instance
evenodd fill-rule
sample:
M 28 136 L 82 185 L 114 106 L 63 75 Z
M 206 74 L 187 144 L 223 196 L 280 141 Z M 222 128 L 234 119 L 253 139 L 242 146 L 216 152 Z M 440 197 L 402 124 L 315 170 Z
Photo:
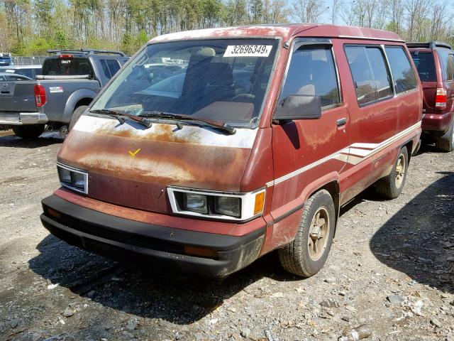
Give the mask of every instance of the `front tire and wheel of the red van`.
M 318 223 L 316 222 L 317 215 L 319 215 Z M 322 226 L 319 226 L 320 217 L 324 221 Z M 319 226 L 318 229 L 315 224 Z M 282 267 L 301 277 L 314 276 L 328 259 L 335 225 L 336 210 L 333 198 L 327 190 L 319 190 L 309 197 L 304 205 L 295 239 L 278 251 Z M 315 248 L 317 245 L 318 250 Z

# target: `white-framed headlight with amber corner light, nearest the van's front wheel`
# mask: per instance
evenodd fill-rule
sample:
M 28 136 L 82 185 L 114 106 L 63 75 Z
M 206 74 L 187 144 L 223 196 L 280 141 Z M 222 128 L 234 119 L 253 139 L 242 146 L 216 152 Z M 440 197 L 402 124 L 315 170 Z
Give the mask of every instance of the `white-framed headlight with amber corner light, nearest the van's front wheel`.
M 174 213 L 211 219 L 250 220 L 265 207 L 265 189 L 231 193 L 170 186 L 167 194 Z

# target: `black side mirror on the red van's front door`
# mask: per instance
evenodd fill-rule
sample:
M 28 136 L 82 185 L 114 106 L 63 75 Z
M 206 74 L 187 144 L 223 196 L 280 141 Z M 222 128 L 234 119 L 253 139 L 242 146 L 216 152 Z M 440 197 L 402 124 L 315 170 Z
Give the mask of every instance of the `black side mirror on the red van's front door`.
M 321 118 L 321 99 L 319 96 L 292 94 L 277 104 L 273 121 L 292 121 L 294 119 Z

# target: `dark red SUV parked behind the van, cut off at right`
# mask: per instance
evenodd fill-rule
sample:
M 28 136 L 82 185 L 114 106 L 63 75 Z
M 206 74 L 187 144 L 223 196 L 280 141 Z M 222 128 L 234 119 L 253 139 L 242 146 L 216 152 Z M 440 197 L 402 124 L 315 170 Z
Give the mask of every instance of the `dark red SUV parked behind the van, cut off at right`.
M 454 150 L 454 50 L 447 43 L 407 43 L 423 85 L 423 136 Z

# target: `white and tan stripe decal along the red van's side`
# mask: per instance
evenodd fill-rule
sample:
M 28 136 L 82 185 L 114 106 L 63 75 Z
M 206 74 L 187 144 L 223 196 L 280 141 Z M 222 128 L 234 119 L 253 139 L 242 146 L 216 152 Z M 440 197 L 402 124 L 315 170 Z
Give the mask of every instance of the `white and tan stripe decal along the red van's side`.
M 405 135 L 411 133 L 411 131 L 418 129 L 420 126 L 421 126 L 421 121 L 414 124 L 413 126 L 410 126 L 409 128 L 405 129 L 404 131 L 401 131 L 399 134 L 396 134 L 396 135 L 390 137 L 389 139 L 384 140 L 380 144 L 362 144 L 362 143 L 352 144 L 352 145 L 348 146 L 347 148 L 343 148 L 340 151 L 336 151 L 336 153 L 332 153 L 329 156 L 321 158 L 319 161 L 315 161 L 314 163 L 304 166 L 303 168 L 299 168 L 296 171 L 293 171 L 292 173 L 283 175 L 280 178 L 277 178 L 276 180 L 272 180 L 272 181 L 266 183 L 265 185 L 267 185 L 267 187 L 270 187 L 272 185 L 277 185 L 278 183 L 282 183 L 282 181 L 288 180 L 289 178 L 293 178 L 294 176 L 304 173 L 305 171 L 309 171 L 309 169 L 319 166 L 321 163 L 329 161 L 332 158 L 336 158 L 337 160 L 344 161 L 344 162 L 346 161 L 352 165 L 357 165 L 361 161 L 365 161 L 367 158 L 370 158 L 371 156 L 375 155 L 379 151 L 382 151 L 384 148 L 386 148 L 390 144 L 393 144 L 394 142 L 398 141 Z M 364 148 L 364 149 L 361 149 L 361 148 Z M 370 148 L 370 150 L 367 150 L 366 148 Z

